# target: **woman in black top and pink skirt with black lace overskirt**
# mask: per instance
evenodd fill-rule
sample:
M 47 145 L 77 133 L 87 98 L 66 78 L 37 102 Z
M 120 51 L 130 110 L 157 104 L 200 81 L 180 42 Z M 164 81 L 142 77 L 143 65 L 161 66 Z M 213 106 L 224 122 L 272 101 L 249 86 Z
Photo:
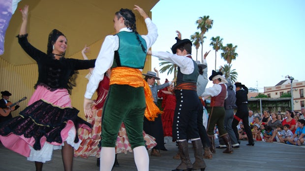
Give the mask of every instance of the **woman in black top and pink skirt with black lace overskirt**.
M 80 125 L 90 129 L 91 125 L 77 116 L 79 111 L 72 107 L 69 93 L 75 86 L 74 73 L 93 68 L 95 60 L 64 58 L 67 39 L 57 29 L 49 34 L 47 53 L 34 48 L 27 39 L 29 6 L 20 11 L 23 22 L 17 37 L 37 62 L 38 81 L 28 107 L 1 125 L 0 140 L 5 147 L 35 161 L 36 171 L 51 160 L 53 149 L 62 147 L 64 170 L 72 171 L 73 147 L 77 149 L 81 143 L 76 129 Z

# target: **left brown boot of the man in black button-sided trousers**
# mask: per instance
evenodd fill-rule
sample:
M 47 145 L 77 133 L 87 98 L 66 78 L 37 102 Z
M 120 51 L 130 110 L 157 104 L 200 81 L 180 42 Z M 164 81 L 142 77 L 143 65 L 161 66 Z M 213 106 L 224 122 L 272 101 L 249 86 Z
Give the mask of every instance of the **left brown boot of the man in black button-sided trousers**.
M 185 170 L 191 171 L 193 166 L 188 155 L 187 140 L 183 142 L 177 142 L 177 144 L 179 149 L 178 153 L 180 154 L 180 158 L 181 158 L 181 163 L 175 170 L 172 171 L 185 171 Z

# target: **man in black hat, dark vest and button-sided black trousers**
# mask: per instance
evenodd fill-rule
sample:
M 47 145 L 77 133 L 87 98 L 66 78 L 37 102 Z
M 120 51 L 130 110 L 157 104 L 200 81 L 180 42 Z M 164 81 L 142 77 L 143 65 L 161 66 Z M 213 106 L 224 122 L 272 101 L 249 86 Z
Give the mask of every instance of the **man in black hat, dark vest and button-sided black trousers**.
M 173 139 L 177 141 L 181 158 L 180 165 L 173 171 L 191 171 L 200 169 L 204 171 L 206 164 L 202 155 L 202 144 L 197 126 L 198 110 L 202 104 L 196 93 L 196 82 L 198 78 L 198 67 L 191 57 L 192 43 L 188 39 L 180 40 L 176 37 L 177 43 L 169 52 L 152 52 L 148 54 L 157 56 L 178 66 L 177 86 L 175 96 L 177 99 L 173 122 Z M 191 139 L 195 162 L 192 164 L 188 153 L 187 140 Z

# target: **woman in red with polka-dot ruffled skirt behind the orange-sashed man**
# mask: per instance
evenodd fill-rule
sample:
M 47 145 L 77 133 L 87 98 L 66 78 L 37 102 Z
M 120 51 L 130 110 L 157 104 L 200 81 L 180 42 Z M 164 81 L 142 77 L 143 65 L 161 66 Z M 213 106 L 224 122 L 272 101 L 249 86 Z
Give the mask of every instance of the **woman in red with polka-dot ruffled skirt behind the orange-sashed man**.
M 86 52 L 87 49 L 90 49 L 89 47 L 85 46 L 85 48 L 82 50 L 83 58 L 88 59 Z M 86 75 L 86 78 L 90 78 L 92 69 L 90 69 L 90 73 Z M 74 151 L 74 156 L 80 156 L 84 158 L 88 158 L 89 156 L 95 156 L 96 159 L 96 165 L 100 166 L 100 141 L 101 141 L 101 133 L 102 133 L 102 109 L 109 91 L 109 82 L 110 82 L 110 75 L 111 70 L 107 70 L 107 72 L 104 74 L 103 80 L 99 82 L 98 87 L 96 89 L 97 98 L 94 100 L 95 105 L 92 106 L 92 113 L 93 116 L 86 117 L 87 122 L 91 123 L 92 125 L 92 131 L 89 132 L 87 129 L 79 129 L 78 134 L 80 136 L 80 140 L 82 140 L 82 143 L 80 147 Z M 150 136 L 149 134 L 146 134 L 143 131 L 143 138 L 145 140 L 145 146 L 147 149 L 151 149 L 152 147 L 156 146 L 156 142 L 154 141 L 154 137 Z M 132 152 L 130 143 L 128 141 L 128 137 L 126 134 L 126 129 L 124 123 L 122 123 L 117 141 L 116 141 L 116 158 L 114 166 L 120 166 L 119 162 L 117 160 L 117 153 L 124 152 L 127 153 L 127 151 Z

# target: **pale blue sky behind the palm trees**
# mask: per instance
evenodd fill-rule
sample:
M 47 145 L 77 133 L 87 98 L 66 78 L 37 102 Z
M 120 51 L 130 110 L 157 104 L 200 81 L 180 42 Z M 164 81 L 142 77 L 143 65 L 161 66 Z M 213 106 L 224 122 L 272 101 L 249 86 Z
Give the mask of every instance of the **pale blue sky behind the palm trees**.
M 176 30 L 182 39 L 190 39 L 197 29 L 199 17 L 210 16 L 213 27 L 205 34 L 203 52 L 207 57 L 208 77 L 215 68 L 215 50 L 211 38 L 220 36 L 223 45 L 237 46 L 232 69 L 237 81 L 248 88 L 264 92 L 287 79 L 305 81 L 305 0 L 160 0 L 152 8 L 152 21 L 158 27 L 158 38 L 152 51 L 169 51 L 176 43 Z M 216 69 L 227 64 L 216 53 Z M 196 49 L 192 49 L 196 60 Z M 201 47 L 198 49 L 201 60 Z M 153 68 L 160 70 L 159 60 L 152 56 Z M 166 72 L 167 73 L 167 72 Z M 160 73 L 161 83 L 173 75 Z M 207 87 L 213 86 L 212 81 Z

